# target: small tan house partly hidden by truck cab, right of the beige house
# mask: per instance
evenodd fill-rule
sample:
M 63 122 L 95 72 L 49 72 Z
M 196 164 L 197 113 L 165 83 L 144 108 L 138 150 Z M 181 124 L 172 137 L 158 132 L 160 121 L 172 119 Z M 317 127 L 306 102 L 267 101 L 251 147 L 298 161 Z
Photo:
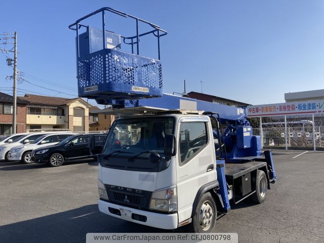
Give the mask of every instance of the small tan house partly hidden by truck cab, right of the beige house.
M 89 117 L 92 117 L 89 120 L 90 131 L 108 131 L 115 120 L 114 115 L 98 114 L 99 110 L 98 107 L 93 106 L 89 111 Z

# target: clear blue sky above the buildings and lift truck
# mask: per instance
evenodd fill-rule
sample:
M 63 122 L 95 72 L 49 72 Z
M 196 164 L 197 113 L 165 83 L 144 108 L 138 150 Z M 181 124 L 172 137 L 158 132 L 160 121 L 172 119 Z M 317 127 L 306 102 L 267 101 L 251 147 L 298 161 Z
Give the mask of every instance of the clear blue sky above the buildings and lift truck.
M 0 32 L 18 32 L 18 68 L 34 84 L 18 84 L 20 92 L 77 96 L 75 32 L 67 26 L 102 7 L 132 14 L 168 31 L 161 38 L 165 93 L 182 93 L 183 79 L 187 92 L 200 92 L 202 80 L 204 93 L 251 104 L 284 102 L 287 92 L 324 89 L 321 0 L 12 0 L 0 6 Z M 90 24 L 99 26 L 96 20 Z M 133 24 L 118 20 L 108 19 L 107 29 L 118 32 L 128 29 L 125 23 Z M 149 47 L 142 49 L 143 54 L 155 57 L 156 50 Z M 6 88 L 12 87 L 12 81 L 5 80 L 10 74 L 12 68 L 0 53 L 0 91 L 10 93 Z

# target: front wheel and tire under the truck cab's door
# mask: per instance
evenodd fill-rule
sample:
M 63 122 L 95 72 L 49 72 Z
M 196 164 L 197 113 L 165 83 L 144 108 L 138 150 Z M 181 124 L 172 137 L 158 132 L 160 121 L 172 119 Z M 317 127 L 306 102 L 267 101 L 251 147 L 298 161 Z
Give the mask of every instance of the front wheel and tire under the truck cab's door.
M 215 229 L 216 218 L 215 200 L 211 193 L 207 192 L 199 200 L 192 222 L 188 225 L 188 231 L 192 233 L 211 233 Z

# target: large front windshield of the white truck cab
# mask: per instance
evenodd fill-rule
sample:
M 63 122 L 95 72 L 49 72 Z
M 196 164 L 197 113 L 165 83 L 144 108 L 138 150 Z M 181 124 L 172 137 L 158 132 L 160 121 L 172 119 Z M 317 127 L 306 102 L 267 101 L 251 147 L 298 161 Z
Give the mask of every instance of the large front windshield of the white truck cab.
M 157 171 L 159 163 L 150 163 L 149 156 L 156 152 L 163 158 L 165 135 L 173 133 L 173 117 L 117 120 L 106 139 L 103 164 L 114 169 Z

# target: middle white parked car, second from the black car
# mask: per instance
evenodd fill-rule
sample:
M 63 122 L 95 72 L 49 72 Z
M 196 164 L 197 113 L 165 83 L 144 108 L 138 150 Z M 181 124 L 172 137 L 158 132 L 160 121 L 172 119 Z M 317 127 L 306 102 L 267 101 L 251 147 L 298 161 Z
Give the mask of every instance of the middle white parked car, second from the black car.
M 46 133 L 26 133 L 25 135 L 21 136 L 20 138 L 12 141 L 11 143 L 5 143 L 0 145 L 0 160 L 7 160 L 9 161 L 9 152 L 10 149 L 13 147 L 16 147 L 18 145 L 31 143 L 35 139 L 41 137 L 44 134 L 50 134 L 50 133 L 57 133 L 57 132 L 46 132 Z M 9 140 L 8 140 L 9 142 Z

